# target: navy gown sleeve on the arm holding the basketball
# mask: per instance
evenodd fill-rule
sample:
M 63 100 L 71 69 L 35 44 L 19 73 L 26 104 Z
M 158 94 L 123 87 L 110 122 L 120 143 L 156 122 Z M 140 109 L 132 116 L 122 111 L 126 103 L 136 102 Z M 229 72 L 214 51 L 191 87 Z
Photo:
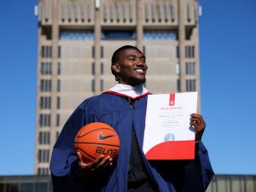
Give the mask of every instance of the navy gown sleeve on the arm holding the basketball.
M 74 177 L 73 170 L 78 159 L 73 149 L 73 140 L 84 125 L 94 121 L 94 112 L 90 102 L 83 102 L 64 125 L 52 151 L 50 172 L 54 192 L 82 191 L 84 183 Z

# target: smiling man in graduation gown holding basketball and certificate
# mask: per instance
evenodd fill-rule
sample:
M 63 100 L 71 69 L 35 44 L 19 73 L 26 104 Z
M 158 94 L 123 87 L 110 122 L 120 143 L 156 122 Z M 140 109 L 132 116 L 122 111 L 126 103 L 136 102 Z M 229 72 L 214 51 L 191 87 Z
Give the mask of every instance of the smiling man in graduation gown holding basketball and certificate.
M 119 82 L 112 89 L 82 102 L 64 125 L 55 143 L 50 163 L 55 192 L 79 191 L 160 191 L 200 192 L 213 176 L 207 149 L 201 143 L 205 122 L 191 114 L 195 127 L 195 160 L 146 160 L 142 145 L 147 96 L 143 87 L 147 72 L 145 56 L 136 47 L 125 45 L 112 57 L 112 73 Z M 111 125 L 119 134 L 116 162 L 102 155 L 85 164 L 73 150 L 79 129 L 91 122 Z

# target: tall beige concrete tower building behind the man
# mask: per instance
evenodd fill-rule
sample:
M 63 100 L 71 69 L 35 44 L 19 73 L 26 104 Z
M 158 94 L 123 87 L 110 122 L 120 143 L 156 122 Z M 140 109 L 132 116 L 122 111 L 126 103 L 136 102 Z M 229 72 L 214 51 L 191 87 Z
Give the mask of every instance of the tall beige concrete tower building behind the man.
M 115 84 L 113 51 L 147 57 L 153 93 L 200 92 L 196 0 L 39 0 L 35 169 L 49 174 L 51 150 L 80 102 Z

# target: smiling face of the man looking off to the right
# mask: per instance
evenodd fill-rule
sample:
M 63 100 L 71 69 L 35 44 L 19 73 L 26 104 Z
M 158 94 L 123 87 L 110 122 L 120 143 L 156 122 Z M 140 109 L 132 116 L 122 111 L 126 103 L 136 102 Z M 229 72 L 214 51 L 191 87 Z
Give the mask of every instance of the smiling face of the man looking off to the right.
M 137 49 L 125 49 L 119 55 L 119 60 L 113 64 L 113 69 L 119 75 L 120 84 L 136 86 L 144 84 L 148 66 L 145 56 Z

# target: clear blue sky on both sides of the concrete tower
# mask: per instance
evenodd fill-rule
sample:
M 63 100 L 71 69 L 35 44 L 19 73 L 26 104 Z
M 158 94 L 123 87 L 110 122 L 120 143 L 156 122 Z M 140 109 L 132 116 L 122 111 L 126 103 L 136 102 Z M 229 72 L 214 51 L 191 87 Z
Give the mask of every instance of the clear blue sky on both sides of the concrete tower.
M 0 175 L 33 173 L 37 3 L 1 3 Z M 256 174 L 256 1 L 201 0 L 201 6 L 203 140 L 216 173 Z

